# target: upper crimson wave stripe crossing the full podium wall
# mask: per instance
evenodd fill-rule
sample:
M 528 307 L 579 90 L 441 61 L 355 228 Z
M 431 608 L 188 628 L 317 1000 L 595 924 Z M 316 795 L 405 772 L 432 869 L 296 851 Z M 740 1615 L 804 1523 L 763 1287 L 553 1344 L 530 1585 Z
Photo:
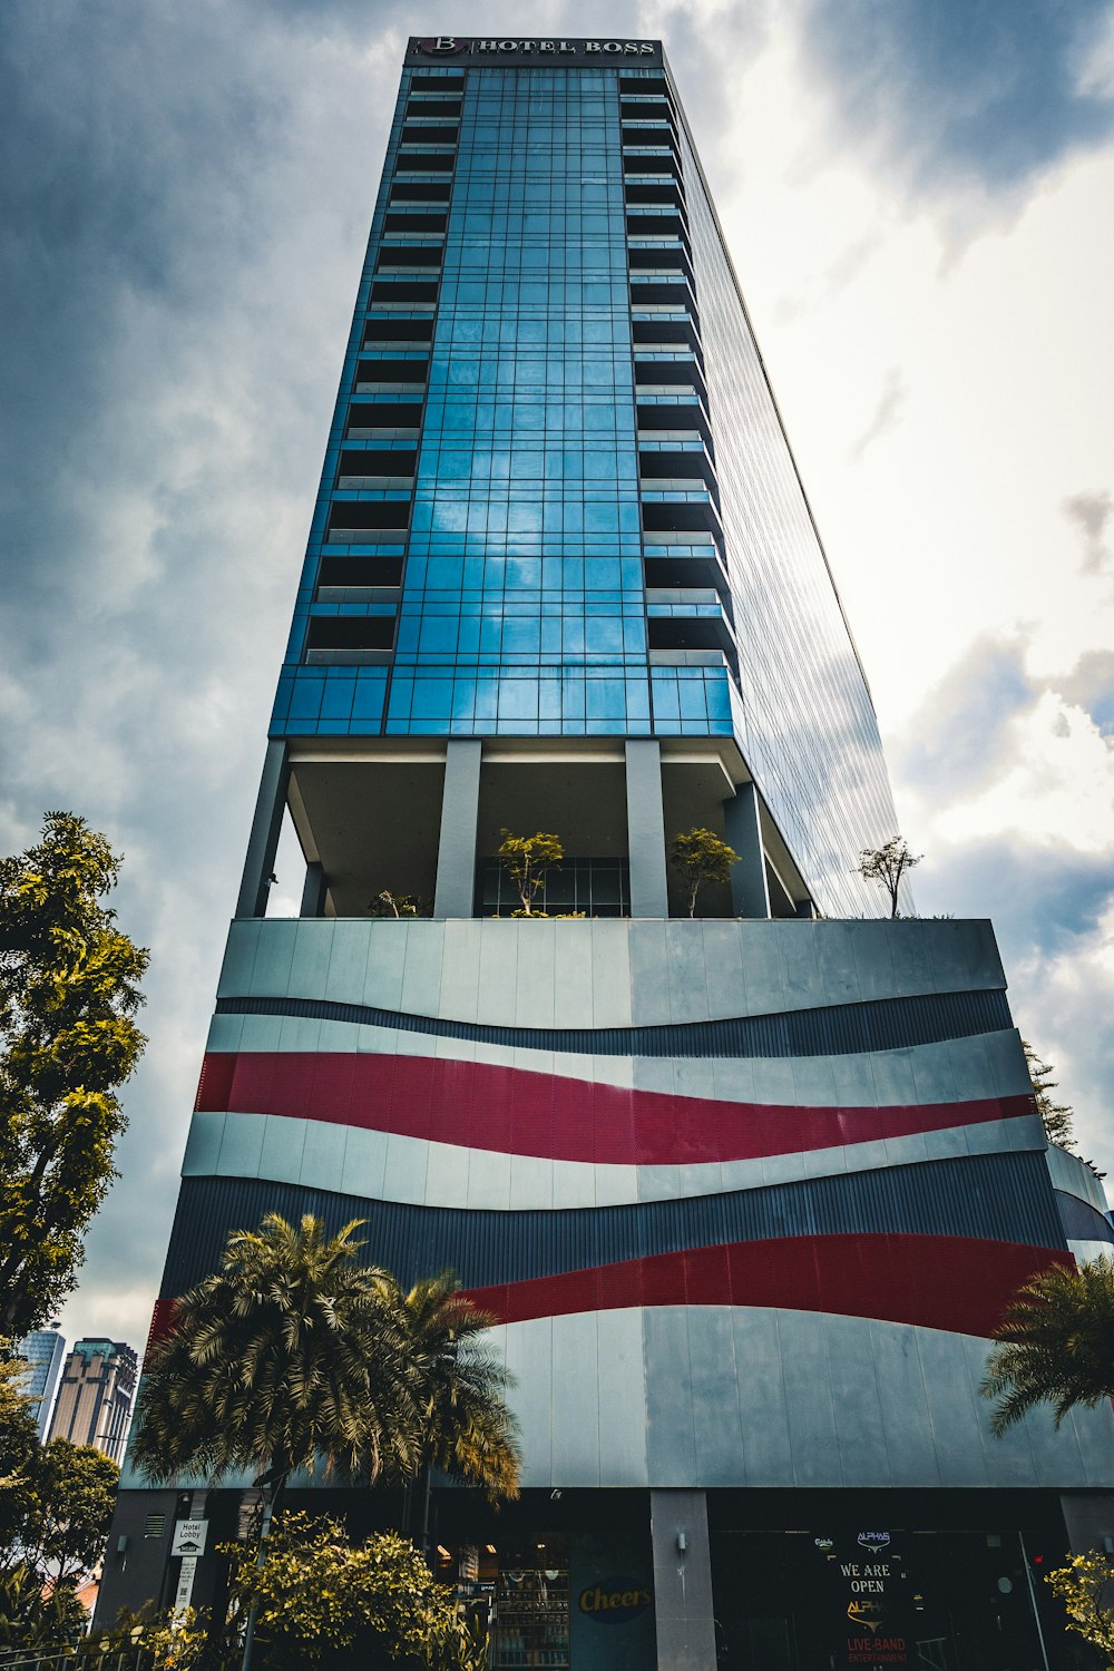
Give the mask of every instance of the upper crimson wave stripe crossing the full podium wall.
M 1032 1115 L 1032 1096 L 797 1108 L 633 1091 L 439 1056 L 209 1053 L 197 1110 L 291 1115 L 503 1155 L 660 1166 L 755 1160 Z

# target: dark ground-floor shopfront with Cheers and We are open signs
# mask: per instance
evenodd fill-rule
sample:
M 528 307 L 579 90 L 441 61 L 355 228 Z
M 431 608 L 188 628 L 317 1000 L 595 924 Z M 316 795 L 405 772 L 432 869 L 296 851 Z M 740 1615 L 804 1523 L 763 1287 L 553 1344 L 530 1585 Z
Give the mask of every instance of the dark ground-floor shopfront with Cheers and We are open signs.
M 394 1492 L 289 1501 L 354 1537 L 408 1517 Z M 190 1599 L 219 1606 L 215 1544 L 244 1509 L 239 1491 L 125 1494 L 102 1618 L 140 1571 L 172 1604 L 190 1559 L 170 1554 L 175 1516 L 207 1524 Z M 554 1489 L 491 1511 L 441 1489 L 429 1561 L 489 1623 L 494 1671 L 1094 1671 L 1044 1574 L 1112 1534 L 1102 1492 Z

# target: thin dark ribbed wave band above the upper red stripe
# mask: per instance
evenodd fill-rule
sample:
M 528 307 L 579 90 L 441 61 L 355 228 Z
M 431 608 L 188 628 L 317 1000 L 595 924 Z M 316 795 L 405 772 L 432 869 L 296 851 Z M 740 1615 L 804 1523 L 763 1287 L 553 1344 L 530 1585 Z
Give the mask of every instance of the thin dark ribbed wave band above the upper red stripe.
M 904 1049 L 940 1039 L 972 1038 L 1012 1028 L 1005 993 L 932 993 L 827 1004 L 772 1016 L 666 1023 L 648 1028 L 496 1028 L 476 1021 L 416 1016 L 371 1004 L 321 998 L 217 999 L 219 1016 L 307 1016 L 319 1021 L 394 1028 L 433 1038 L 509 1044 L 516 1049 L 575 1051 L 595 1056 L 847 1056 Z

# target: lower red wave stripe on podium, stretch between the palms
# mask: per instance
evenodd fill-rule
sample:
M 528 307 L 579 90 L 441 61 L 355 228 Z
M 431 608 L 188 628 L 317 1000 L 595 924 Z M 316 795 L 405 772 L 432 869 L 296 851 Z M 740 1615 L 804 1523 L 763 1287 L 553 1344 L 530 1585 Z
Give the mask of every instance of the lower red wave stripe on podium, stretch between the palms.
M 504 1323 L 628 1305 L 763 1305 L 989 1337 L 1015 1290 L 1049 1265 L 1076 1262 L 1057 1248 L 964 1237 L 792 1237 L 651 1253 L 471 1288 L 469 1298 Z

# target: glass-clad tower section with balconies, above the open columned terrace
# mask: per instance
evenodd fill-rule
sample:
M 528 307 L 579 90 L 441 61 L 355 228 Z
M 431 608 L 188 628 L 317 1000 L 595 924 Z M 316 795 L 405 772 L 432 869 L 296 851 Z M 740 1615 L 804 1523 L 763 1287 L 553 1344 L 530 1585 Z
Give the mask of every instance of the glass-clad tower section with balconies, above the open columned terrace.
M 272 737 L 730 739 L 877 911 L 877 720 L 668 70 L 409 60 Z

